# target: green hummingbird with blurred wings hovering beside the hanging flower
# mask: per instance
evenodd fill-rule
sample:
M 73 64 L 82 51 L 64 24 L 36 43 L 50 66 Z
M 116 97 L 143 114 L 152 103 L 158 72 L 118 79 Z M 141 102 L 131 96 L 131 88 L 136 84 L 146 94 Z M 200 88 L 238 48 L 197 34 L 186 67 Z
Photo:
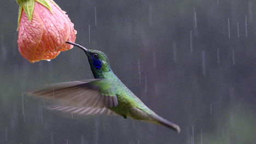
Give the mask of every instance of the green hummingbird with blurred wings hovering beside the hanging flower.
M 150 110 L 110 68 L 108 57 L 101 51 L 66 41 L 82 49 L 89 61 L 95 79 L 55 83 L 29 94 L 61 101 L 62 105 L 47 107 L 51 110 L 72 112 L 82 115 L 120 115 L 138 121 L 165 125 L 177 133 L 181 129 L 167 119 Z M 64 105 L 64 106 L 63 106 Z

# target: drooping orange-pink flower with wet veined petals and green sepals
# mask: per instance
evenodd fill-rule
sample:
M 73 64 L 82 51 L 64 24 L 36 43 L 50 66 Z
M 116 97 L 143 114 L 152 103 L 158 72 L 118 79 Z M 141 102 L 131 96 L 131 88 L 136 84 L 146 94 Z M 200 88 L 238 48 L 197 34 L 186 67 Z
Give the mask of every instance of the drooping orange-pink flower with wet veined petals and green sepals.
M 65 11 L 62 11 L 55 2 L 16 1 L 20 4 L 18 46 L 24 58 L 34 63 L 53 59 L 61 51 L 72 49 L 73 46 L 66 44 L 65 41 L 74 42 L 77 32 Z

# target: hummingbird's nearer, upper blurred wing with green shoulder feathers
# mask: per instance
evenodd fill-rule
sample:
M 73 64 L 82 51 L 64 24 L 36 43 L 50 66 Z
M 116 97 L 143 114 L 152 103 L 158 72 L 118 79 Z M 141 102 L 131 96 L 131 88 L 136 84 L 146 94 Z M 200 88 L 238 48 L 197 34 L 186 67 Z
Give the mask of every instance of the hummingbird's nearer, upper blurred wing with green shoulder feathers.
M 59 100 L 68 106 L 102 109 L 118 105 L 113 87 L 110 80 L 92 79 L 55 83 L 28 94 Z

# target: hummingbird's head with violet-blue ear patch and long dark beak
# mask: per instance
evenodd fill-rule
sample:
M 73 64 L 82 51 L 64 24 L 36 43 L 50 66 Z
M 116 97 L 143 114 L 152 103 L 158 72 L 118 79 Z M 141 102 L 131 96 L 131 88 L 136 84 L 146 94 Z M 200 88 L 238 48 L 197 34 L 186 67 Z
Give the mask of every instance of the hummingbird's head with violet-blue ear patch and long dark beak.
M 101 51 L 97 51 L 97 50 L 89 50 L 83 46 L 80 46 L 75 43 L 71 43 L 69 41 L 66 41 L 66 43 L 77 46 L 86 53 L 86 56 L 88 58 L 90 66 L 91 66 L 92 73 L 94 73 L 96 71 L 97 71 L 97 73 L 100 73 L 103 71 L 107 72 L 107 71 L 111 70 L 109 62 L 108 62 L 108 57 L 105 55 L 105 53 L 103 53 Z

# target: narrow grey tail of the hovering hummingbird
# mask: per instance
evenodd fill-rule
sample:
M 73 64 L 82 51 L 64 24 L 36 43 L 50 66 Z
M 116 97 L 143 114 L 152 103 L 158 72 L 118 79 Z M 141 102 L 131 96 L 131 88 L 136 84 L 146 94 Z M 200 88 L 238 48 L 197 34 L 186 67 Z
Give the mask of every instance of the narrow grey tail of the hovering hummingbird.
M 168 128 L 171 128 L 173 130 L 176 130 L 178 133 L 181 132 L 181 128 L 179 128 L 179 126 L 177 124 L 174 124 L 170 121 L 168 121 L 167 119 L 164 119 L 158 115 L 156 115 L 155 113 L 153 114 L 148 114 L 148 116 L 152 119 L 154 119 L 154 121 L 156 121 L 156 123 L 159 123 L 159 124 L 162 124 L 162 125 L 165 125 L 166 127 Z M 153 122 L 154 123 L 154 122 Z

